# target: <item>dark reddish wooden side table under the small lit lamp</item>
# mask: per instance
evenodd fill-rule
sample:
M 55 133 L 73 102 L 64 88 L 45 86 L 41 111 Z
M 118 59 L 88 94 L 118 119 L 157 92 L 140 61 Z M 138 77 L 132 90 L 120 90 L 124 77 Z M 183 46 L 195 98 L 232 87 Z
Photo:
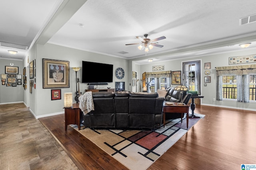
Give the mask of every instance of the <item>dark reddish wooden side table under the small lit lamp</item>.
M 80 130 L 80 108 L 79 103 L 74 103 L 72 107 L 64 107 L 65 109 L 65 131 L 68 125 L 78 125 Z

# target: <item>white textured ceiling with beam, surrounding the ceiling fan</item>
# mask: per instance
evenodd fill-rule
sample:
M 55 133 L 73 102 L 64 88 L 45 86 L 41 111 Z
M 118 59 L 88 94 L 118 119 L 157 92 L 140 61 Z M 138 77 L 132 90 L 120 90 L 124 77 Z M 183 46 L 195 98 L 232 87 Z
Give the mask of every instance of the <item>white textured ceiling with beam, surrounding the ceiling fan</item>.
M 256 47 L 256 22 L 240 25 L 240 18 L 256 13 L 254 0 L 61 2 L 1 2 L 6 17 L 0 18 L 4 23 L 0 25 L 0 41 L 30 47 L 39 37 L 37 43 L 41 44 L 48 42 L 124 59 L 154 61 L 245 50 L 238 46 L 243 42 L 252 42 L 248 49 Z M 85 26 L 80 27 L 79 23 Z M 154 47 L 147 53 L 138 50 L 138 45 L 125 45 L 140 43 L 136 36 L 144 38 L 145 33 L 150 39 L 165 36 L 166 39 L 157 41 L 164 47 Z M 1 56 L 10 56 L 6 51 L 0 47 Z M 122 54 L 123 51 L 128 53 Z M 23 55 L 20 58 L 26 56 L 22 51 L 17 54 Z

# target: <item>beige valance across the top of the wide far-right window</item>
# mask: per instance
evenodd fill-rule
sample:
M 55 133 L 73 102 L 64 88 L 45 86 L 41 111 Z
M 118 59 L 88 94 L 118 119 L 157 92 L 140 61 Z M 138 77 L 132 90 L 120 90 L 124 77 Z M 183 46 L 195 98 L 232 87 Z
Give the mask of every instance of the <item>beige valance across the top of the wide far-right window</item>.
M 217 76 L 256 74 L 256 64 L 216 67 Z

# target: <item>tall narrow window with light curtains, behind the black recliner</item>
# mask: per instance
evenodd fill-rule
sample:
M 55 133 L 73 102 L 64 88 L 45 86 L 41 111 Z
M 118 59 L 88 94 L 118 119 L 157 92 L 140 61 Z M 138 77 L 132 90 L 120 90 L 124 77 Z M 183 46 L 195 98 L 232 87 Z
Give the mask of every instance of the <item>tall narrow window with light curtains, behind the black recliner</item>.
M 188 87 L 190 91 L 197 91 L 200 95 L 200 61 L 190 61 L 182 63 L 182 84 Z

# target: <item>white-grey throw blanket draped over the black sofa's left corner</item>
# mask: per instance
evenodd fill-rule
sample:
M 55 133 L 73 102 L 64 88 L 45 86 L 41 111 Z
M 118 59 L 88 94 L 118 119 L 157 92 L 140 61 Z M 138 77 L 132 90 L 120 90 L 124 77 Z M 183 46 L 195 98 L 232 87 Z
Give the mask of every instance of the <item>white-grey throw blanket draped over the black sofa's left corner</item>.
M 94 110 L 94 103 L 92 99 L 92 92 L 85 92 L 79 98 L 79 108 L 83 111 L 84 115 Z

